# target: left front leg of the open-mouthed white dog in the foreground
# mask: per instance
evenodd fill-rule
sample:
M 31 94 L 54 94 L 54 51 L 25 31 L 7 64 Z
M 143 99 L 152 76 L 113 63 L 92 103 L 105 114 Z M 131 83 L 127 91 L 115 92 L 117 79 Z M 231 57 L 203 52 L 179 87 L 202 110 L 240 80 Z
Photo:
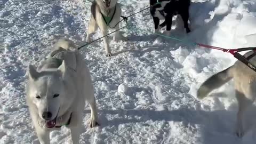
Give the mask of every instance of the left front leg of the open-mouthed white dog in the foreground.
M 39 142 L 41 144 L 50 144 L 50 132 L 45 131 L 42 127 L 38 125 L 35 125 L 35 129 Z

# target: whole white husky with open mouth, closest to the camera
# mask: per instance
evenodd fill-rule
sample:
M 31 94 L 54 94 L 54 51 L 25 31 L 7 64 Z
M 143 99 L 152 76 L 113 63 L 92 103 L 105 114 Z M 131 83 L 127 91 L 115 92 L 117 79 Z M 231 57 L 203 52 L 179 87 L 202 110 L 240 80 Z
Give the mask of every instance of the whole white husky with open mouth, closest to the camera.
M 29 65 L 28 75 L 27 105 L 41 144 L 50 143 L 50 131 L 63 125 L 73 143 L 79 143 L 85 100 L 91 108 L 90 126 L 98 124 L 90 72 L 74 43 L 61 39 L 37 69 Z

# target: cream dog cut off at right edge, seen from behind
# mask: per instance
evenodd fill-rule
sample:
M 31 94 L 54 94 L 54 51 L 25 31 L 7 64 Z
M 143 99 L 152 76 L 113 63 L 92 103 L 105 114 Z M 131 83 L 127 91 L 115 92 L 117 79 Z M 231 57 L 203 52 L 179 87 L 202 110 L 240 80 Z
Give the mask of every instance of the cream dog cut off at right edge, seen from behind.
M 253 65 L 256 65 L 256 52 L 250 51 L 244 54 L 244 57 Z M 238 137 L 245 133 L 243 129 L 243 114 L 247 107 L 251 106 L 256 98 L 256 72 L 247 67 L 241 61 L 207 79 L 198 89 L 197 97 L 203 99 L 212 90 L 234 78 L 236 99 L 238 101 L 237 129 Z

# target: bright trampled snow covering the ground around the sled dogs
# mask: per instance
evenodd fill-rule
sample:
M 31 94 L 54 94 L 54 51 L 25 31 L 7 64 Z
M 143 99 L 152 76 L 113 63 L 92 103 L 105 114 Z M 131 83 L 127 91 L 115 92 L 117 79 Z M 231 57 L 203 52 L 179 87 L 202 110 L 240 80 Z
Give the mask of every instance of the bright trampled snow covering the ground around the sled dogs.
M 123 15 L 146 8 L 148 0 L 120 0 Z M 0 0 L 0 143 L 39 143 L 25 101 L 26 68 L 50 52 L 56 39 L 84 44 L 90 2 Z M 125 23 L 122 23 L 124 26 Z M 255 110 L 249 132 L 234 134 L 237 102 L 232 82 L 203 101 L 198 86 L 235 62 L 228 53 L 179 43 L 153 34 L 149 11 L 129 19 L 127 42 L 111 42 L 105 57 L 100 40 L 82 49 L 88 63 L 101 126 L 90 129 L 88 106 L 80 143 L 255 143 Z M 228 49 L 256 45 L 255 0 L 194 0 L 188 35 L 178 17 L 172 35 Z M 98 32 L 93 38 L 100 37 Z M 67 143 L 69 131 L 51 133 Z

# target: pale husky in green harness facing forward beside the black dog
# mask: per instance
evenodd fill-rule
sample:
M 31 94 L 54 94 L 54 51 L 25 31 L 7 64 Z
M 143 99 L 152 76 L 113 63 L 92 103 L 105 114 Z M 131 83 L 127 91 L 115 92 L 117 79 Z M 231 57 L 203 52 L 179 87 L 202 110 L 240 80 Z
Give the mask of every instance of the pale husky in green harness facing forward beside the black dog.
M 98 28 L 100 28 L 103 36 L 108 34 L 108 28 L 114 30 L 119 29 L 118 22 L 120 21 L 121 13 L 121 7 L 117 3 L 117 0 L 95 0 L 91 6 L 91 20 L 87 31 L 86 42 L 90 43 L 92 41 L 91 35 L 95 33 Z M 114 35 L 114 41 L 118 40 L 127 40 L 119 30 L 116 31 Z M 105 44 L 107 57 L 110 57 L 112 54 L 108 38 L 104 37 L 103 42 Z

